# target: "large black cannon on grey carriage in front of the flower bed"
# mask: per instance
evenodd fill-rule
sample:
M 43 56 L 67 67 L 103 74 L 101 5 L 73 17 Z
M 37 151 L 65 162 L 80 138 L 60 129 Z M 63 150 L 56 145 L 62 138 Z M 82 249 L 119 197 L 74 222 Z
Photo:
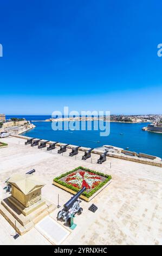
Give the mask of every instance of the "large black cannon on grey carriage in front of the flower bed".
M 58 212 L 57 219 L 60 220 L 62 218 L 65 223 L 71 223 L 71 219 L 74 215 L 81 214 L 83 209 L 80 207 L 80 199 L 81 194 L 86 191 L 86 187 L 83 187 L 79 192 L 75 194 L 66 204 L 63 205 L 63 209 Z

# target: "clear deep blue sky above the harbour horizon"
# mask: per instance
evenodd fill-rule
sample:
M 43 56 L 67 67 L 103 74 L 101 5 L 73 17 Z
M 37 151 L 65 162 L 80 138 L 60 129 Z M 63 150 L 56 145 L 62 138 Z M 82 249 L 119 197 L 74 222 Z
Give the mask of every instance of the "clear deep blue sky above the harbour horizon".
M 0 2 L 0 112 L 162 113 L 162 2 Z

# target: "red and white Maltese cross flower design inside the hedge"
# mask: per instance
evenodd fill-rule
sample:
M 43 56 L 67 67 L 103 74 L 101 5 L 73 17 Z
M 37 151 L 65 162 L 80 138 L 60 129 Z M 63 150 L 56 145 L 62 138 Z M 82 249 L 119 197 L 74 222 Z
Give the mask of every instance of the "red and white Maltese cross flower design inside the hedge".
M 80 171 L 69 174 L 66 182 L 77 188 L 86 187 L 88 190 L 91 190 L 100 184 L 101 178 L 94 173 Z

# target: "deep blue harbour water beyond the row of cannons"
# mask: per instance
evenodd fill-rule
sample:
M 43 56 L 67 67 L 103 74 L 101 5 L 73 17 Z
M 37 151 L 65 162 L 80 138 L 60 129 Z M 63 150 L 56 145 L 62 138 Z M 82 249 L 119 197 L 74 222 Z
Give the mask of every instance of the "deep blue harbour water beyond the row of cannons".
M 12 117 L 16 116 L 14 115 Z M 51 116 L 23 115 L 17 117 L 31 121 L 44 120 Z M 11 118 L 11 116 L 7 116 L 7 118 Z M 95 130 L 53 131 L 51 129 L 51 122 L 36 121 L 34 125 L 36 125 L 35 129 L 24 132 L 23 135 L 90 148 L 96 148 L 106 144 L 124 149 L 128 147 L 129 150 L 137 153 L 146 153 L 162 157 L 162 134 L 142 131 L 142 127 L 147 126 L 147 123 L 110 123 L 110 135 L 107 137 L 101 137 L 100 131 Z M 122 135 L 120 135 L 120 133 L 122 133 Z

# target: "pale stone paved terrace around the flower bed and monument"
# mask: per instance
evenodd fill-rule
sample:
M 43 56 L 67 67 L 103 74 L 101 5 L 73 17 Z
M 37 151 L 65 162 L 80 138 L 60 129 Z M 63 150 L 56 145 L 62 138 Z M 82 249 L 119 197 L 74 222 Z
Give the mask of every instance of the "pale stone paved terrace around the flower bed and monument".
M 96 164 L 98 155 L 82 161 L 82 152 L 75 157 L 49 153 L 46 149 L 25 146 L 23 139 L 1 139 L 9 144 L 0 149 L 0 197 L 9 196 L 3 190 L 5 180 L 13 173 L 25 173 L 33 168 L 43 178 L 46 186 L 43 197 L 57 205 L 57 194 L 63 205 L 71 195 L 52 185 L 53 178 L 77 166 L 88 167 L 112 175 L 112 182 L 98 196 L 87 203 L 82 200 L 83 213 L 75 217 L 77 227 L 62 243 L 63 245 L 161 245 L 162 244 L 162 169 L 160 167 L 107 158 Z M 112 163 L 112 168 L 110 164 Z M 90 212 L 92 204 L 98 210 Z M 58 210 L 51 217 L 56 220 Z M 59 222 L 60 223 L 60 222 Z M 63 223 L 61 223 L 63 224 Z M 55 230 L 54 230 L 55 232 Z M 50 245 L 51 243 L 35 228 L 14 240 L 15 230 L 0 215 L 0 245 Z

